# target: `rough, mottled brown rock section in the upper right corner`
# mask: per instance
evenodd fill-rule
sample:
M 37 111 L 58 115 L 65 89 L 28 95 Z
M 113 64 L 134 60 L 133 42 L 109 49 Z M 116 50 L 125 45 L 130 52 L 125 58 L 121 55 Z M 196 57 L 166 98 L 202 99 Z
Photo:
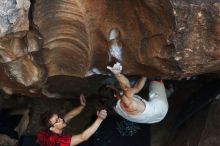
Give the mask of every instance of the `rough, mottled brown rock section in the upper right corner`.
M 176 30 L 173 57 L 184 74 L 218 71 L 220 2 L 173 0 Z

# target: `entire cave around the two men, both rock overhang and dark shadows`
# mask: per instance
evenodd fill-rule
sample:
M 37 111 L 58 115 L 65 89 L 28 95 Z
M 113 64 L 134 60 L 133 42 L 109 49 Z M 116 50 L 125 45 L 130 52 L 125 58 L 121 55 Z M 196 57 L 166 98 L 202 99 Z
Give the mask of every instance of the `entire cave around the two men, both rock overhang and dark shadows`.
M 145 99 L 150 80 L 164 81 L 170 96 L 162 122 L 126 121 L 114 98 L 98 96 L 103 84 L 119 87 L 106 68 L 116 62 L 131 83 L 147 77 Z M 86 108 L 65 132 L 84 130 L 97 109 L 108 117 L 82 146 L 217 146 L 219 77 L 219 0 L 0 1 L 0 145 L 34 145 L 40 114 L 64 114 L 83 92 Z M 8 108 L 26 115 L 9 119 L 25 129 L 9 130 L 14 137 L 1 134 Z

